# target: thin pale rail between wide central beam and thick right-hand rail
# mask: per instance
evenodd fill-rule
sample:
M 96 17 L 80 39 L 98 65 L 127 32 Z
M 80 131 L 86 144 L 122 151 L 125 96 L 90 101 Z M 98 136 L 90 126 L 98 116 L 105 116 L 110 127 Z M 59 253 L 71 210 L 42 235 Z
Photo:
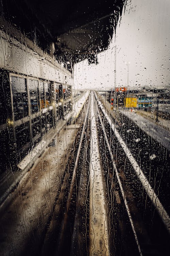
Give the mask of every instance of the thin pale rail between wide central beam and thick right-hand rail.
M 96 105 L 97 105 L 97 104 L 96 104 Z M 117 170 L 117 168 L 116 168 L 116 163 L 115 163 L 115 161 L 114 161 L 114 157 L 113 157 L 113 154 L 112 154 L 112 151 L 111 151 L 111 147 L 110 147 L 109 141 L 108 141 L 108 139 L 107 139 L 107 135 L 106 135 L 105 128 L 104 128 L 104 125 L 103 125 L 103 122 L 102 122 L 102 119 L 101 119 L 101 116 L 100 116 L 100 113 L 99 113 L 98 106 L 97 106 L 97 110 L 98 110 L 98 117 L 99 117 L 99 119 L 100 119 L 100 123 L 101 123 L 102 129 L 103 129 L 104 137 L 105 137 L 105 140 L 106 140 L 108 149 L 109 149 L 109 153 L 110 153 L 111 158 L 112 158 L 113 167 L 114 167 L 114 170 L 115 170 L 115 172 L 116 172 L 116 177 L 117 177 L 117 180 L 118 180 L 118 183 L 119 183 L 119 187 L 120 187 L 120 190 L 121 190 L 121 193 L 122 193 L 122 197 L 123 197 L 123 200 L 124 200 L 124 205 L 125 205 L 126 211 L 127 211 L 127 213 L 128 213 L 128 217 L 129 217 L 129 220 L 130 220 L 130 223 L 131 223 L 131 227 L 132 227 L 132 230 L 133 230 L 133 233 L 134 233 L 134 237 L 135 237 L 135 240 L 136 240 L 136 244 L 137 244 L 137 247 L 138 247 L 138 250 L 139 250 L 139 254 L 140 254 L 140 256 L 142 256 L 141 248 L 140 248 L 140 245 L 139 245 L 139 242 L 138 242 L 138 238 L 137 238 L 137 234 L 136 234 L 136 231 L 135 231 L 135 227 L 134 227 L 134 225 L 133 225 L 133 220 L 132 220 L 132 216 L 131 216 L 131 213 L 130 213 L 130 210 L 129 210 L 128 202 L 127 202 L 126 197 L 125 197 L 125 195 L 124 195 L 123 186 L 122 186 L 122 184 L 121 184 L 121 180 L 120 180 L 120 177 L 119 177 L 119 173 L 118 173 L 118 170 Z

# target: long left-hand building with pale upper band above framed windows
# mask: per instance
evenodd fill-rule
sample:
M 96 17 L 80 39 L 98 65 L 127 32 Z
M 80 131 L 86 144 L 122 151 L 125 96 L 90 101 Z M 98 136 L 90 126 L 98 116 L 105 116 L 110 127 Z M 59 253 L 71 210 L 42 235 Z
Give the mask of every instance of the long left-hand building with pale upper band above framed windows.
M 0 162 L 15 168 L 71 110 L 72 76 L 40 48 L 0 41 Z M 31 43 L 30 43 L 31 45 Z M 60 102 L 60 104 L 58 104 Z

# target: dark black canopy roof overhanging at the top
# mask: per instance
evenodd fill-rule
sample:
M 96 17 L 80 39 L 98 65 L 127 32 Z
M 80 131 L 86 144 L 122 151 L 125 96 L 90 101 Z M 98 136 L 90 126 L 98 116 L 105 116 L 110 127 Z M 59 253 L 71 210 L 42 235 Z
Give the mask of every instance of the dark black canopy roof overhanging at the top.
M 116 29 L 125 0 L 2 0 L 5 19 L 44 51 L 54 42 L 54 55 L 70 63 L 88 58 L 97 63 Z M 69 67 L 71 68 L 71 67 Z

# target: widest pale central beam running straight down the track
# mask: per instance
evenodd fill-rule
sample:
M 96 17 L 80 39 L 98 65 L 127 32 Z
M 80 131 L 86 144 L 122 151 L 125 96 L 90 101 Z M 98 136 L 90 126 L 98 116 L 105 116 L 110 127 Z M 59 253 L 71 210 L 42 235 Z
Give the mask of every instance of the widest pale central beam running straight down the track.
M 108 256 L 107 217 L 93 95 L 91 93 L 89 255 Z

